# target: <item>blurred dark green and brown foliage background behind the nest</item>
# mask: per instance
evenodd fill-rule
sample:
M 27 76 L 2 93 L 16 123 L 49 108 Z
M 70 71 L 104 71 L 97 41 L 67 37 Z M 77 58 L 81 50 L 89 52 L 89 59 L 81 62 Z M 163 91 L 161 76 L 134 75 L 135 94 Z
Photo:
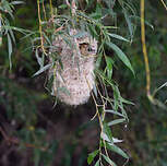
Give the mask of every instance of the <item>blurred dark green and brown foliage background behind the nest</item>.
M 57 7 L 59 1 L 53 4 Z M 140 16 L 140 3 L 135 1 L 134 5 Z M 116 11 L 121 33 L 126 34 L 126 21 Z M 17 7 L 14 15 L 13 26 L 38 29 L 34 0 Z M 146 26 L 153 92 L 167 82 L 167 11 L 160 0 L 146 1 L 145 19 L 154 26 Z M 0 166 L 86 166 L 87 154 L 96 149 L 99 138 L 98 121 L 91 121 L 95 114 L 93 100 L 76 108 L 61 103 L 53 107 L 55 99 L 45 90 L 45 74 L 32 78 L 38 64 L 28 49 L 29 40 L 15 35 L 11 71 L 5 38 L 0 47 Z M 127 106 L 128 126 L 116 126 L 112 133 L 124 140 L 119 146 L 130 156 L 128 166 L 167 166 L 167 110 L 152 105 L 146 97 L 140 37 L 139 21 L 133 43 L 121 45 L 136 75 L 119 60 L 114 71 L 122 96 L 135 105 Z M 156 98 L 165 103 L 167 88 L 160 90 Z M 126 162 L 115 153 L 111 158 L 118 165 Z

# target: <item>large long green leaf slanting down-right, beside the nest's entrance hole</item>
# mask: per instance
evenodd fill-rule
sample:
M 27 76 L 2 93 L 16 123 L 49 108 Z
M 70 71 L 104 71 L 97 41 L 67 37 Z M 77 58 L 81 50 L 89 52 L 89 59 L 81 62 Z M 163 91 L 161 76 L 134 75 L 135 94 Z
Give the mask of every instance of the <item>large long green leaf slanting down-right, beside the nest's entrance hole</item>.
M 129 61 L 129 59 L 127 58 L 127 56 L 122 52 L 122 50 L 116 46 L 112 43 L 106 43 L 107 46 L 109 46 L 111 49 L 114 49 L 117 54 L 117 56 L 120 58 L 120 60 L 132 71 L 132 73 L 134 74 L 134 70 Z

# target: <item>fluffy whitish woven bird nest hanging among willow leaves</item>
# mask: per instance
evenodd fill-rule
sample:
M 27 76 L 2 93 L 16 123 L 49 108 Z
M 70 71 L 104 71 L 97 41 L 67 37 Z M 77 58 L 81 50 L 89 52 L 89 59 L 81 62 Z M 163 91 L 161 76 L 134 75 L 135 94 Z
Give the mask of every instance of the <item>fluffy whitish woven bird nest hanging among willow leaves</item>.
M 52 43 L 53 48 L 59 50 L 61 61 L 61 66 L 57 62 L 49 71 L 49 75 L 53 75 L 52 94 L 68 105 L 86 103 L 95 85 L 97 42 L 88 33 L 74 37 L 79 33 L 70 31 L 70 45 L 60 36 Z M 53 59 L 50 58 L 50 61 Z

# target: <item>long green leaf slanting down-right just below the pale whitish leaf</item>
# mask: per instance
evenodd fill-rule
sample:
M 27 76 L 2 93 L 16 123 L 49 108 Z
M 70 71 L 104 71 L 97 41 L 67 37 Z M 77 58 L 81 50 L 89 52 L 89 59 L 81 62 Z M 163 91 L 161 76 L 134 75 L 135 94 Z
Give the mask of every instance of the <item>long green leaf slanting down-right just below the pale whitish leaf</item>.
M 107 143 L 106 142 L 106 147 L 108 149 L 108 150 L 110 150 L 110 151 L 112 151 L 112 152 L 116 152 L 116 153 L 118 153 L 119 155 L 121 155 L 122 157 L 124 157 L 124 158 L 129 158 L 129 156 L 120 149 L 120 147 L 118 147 L 117 145 L 115 145 L 115 144 L 110 144 L 110 143 Z

